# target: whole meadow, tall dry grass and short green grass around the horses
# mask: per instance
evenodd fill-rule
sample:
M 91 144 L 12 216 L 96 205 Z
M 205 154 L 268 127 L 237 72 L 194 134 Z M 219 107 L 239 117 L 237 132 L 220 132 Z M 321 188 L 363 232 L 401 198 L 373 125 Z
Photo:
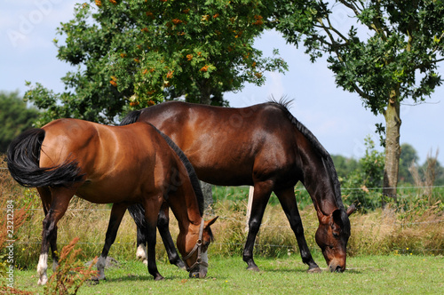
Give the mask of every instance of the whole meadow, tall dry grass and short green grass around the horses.
M 4 168 L 1 159 L 0 163 L 0 168 Z M 135 259 L 136 227 L 129 214 L 126 214 L 109 252 L 109 256 L 119 262 L 118 267 L 107 269 L 106 282 L 97 285 L 85 282 L 78 293 L 175 291 L 191 294 L 218 291 L 219 294 L 432 294 L 442 291 L 444 216 L 440 192 L 439 201 L 432 204 L 421 202 L 426 196 L 416 192 L 416 195 L 402 196 L 410 200 L 408 206 L 405 203 L 402 206 L 389 204 L 384 210 L 373 208 L 371 211 L 353 213 L 350 218 L 352 236 L 347 246 L 347 270 L 344 274 L 324 272 L 317 275 L 306 273 L 307 267 L 301 262 L 296 238 L 275 196 L 272 196 L 267 206 L 255 246 L 255 259 L 261 271 L 247 271 L 242 261 L 242 248 L 247 235 L 248 187 L 214 187 L 213 194 L 215 203 L 206 216 L 218 215 L 219 219 L 212 226 L 216 240 L 210 245 L 207 278 L 189 279 L 185 271 L 170 266 L 158 235 L 156 259 L 166 279 L 154 282 L 147 268 Z M 295 194 L 297 202 L 301 204 L 300 213 L 307 243 L 315 261 L 320 267 L 326 267 L 321 251 L 314 242 L 318 220 L 313 206 L 306 202 L 299 188 Z M 14 221 L 14 286 L 23 291 L 44 293 L 44 287 L 36 286 L 36 263 L 44 219 L 42 205 L 35 189 L 18 187 L 3 169 L 0 170 L 0 208 L 6 208 L 6 202 L 9 201 L 14 206 L 14 218 L 18 219 Z M 78 256 L 82 263 L 99 255 L 109 212 L 108 205 L 74 198 L 67 214 L 59 221 L 59 249 L 78 237 L 75 249 L 82 250 Z M 5 213 L 1 211 L 0 216 L 2 235 L 6 234 Z M 172 218 L 170 230 L 173 236 L 178 234 L 177 228 L 177 221 Z M 3 255 L 4 260 L 4 254 L 0 255 Z

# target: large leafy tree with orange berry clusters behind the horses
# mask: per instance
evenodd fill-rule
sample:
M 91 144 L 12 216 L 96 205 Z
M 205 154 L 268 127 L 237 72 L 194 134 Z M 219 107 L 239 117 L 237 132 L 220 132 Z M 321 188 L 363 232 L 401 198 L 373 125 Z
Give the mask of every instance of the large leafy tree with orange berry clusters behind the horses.
M 270 11 L 260 0 L 90 1 L 58 28 L 58 58 L 78 67 L 62 78 L 67 92 L 41 84 L 28 100 L 42 121 L 60 116 L 114 123 L 128 108 L 185 96 L 223 104 L 223 92 L 263 84 L 264 71 L 286 69 L 253 48 Z

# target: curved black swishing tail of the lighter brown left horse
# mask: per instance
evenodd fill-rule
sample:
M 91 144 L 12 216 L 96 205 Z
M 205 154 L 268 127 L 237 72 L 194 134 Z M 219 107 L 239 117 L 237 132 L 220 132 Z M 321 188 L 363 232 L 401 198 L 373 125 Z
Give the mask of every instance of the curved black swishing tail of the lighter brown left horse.
M 83 179 L 75 161 L 40 168 L 40 148 L 43 129 L 31 129 L 12 140 L 7 152 L 8 169 L 12 178 L 23 187 L 70 187 Z

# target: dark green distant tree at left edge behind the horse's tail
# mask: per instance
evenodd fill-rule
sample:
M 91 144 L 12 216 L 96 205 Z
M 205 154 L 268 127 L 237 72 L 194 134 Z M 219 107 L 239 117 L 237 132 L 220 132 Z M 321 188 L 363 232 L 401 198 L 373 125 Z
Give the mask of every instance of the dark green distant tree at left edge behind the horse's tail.
M 36 108 L 28 108 L 19 92 L 0 92 L 0 153 L 21 132 L 32 127 L 38 116 Z

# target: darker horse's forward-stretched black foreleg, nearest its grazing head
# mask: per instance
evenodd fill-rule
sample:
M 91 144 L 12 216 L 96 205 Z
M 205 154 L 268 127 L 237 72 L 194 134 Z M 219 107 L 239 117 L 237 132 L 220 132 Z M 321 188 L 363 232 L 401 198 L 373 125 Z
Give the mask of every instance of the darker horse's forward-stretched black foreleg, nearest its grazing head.
M 308 272 L 320 272 L 321 268 L 319 268 L 316 262 L 314 262 L 312 253 L 305 241 L 304 227 L 302 226 L 302 220 L 299 211 L 297 210 L 293 187 L 283 190 L 274 190 L 274 193 L 277 195 L 279 202 L 281 202 L 282 209 L 285 212 L 287 219 L 289 219 L 289 226 L 296 235 L 301 258 L 302 261 L 308 265 Z

